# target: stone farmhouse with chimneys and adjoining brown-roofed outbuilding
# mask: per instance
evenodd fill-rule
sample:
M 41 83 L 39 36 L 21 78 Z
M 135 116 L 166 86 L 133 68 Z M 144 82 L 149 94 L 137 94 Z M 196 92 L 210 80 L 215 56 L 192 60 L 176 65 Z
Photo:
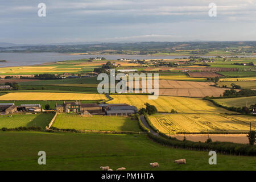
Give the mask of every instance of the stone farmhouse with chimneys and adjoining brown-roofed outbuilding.
M 88 111 L 90 114 L 101 114 L 102 107 L 97 104 L 81 104 L 81 101 L 65 102 L 62 105 L 55 105 L 59 113 L 80 113 Z

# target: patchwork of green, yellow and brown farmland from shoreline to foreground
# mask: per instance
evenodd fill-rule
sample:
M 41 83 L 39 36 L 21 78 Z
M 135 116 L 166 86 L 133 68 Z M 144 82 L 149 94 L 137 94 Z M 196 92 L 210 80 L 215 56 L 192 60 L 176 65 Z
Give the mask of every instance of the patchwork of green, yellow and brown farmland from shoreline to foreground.
M 185 52 L 189 54 L 191 51 L 195 50 L 184 51 L 181 55 Z M 225 53 L 225 51 L 220 52 Z M 252 114 L 241 114 L 217 107 L 212 102 L 203 99 L 205 96 L 220 97 L 225 90 L 231 89 L 217 87 L 215 86 L 216 79 L 207 78 L 217 76 L 225 84 L 228 81 L 236 82 L 237 85 L 241 82 L 248 84 L 249 81 L 254 84 L 256 76 L 254 65 L 234 65 L 234 61 L 224 61 L 222 57 L 192 56 L 198 57 L 154 60 L 156 63 L 150 59 L 131 61 L 82 59 L 35 66 L 0 68 L 0 77 L 5 78 L 10 75 L 0 80 L 1 85 L 18 83 L 17 90 L 15 88 L 0 92 L 0 104 L 14 103 L 17 109 L 14 113 L 7 113 L 7 109 L 1 108 L 0 130 L 2 127 L 10 129 L 19 126 L 40 126 L 43 129 L 42 131 L 21 132 L 7 132 L 3 129 L 0 132 L 0 145 L 2 146 L 2 149 L 0 148 L 0 169 L 100 170 L 99 167 L 102 165 L 118 168 L 122 164 L 129 170 L 151 170 L 148 164 L 153 160 L 160 164 L 160 168 L 154 170 L 230 170 L 241 169 L 241 166 L 243 166 L 242 169 L 255 169 L 254 156 L 224 156 L 220 153 L 218 153 L 218 165 L 210 166 L 208 152 L 191 151 L 191 146 L 188 145 L 192 145 L 192 150 L 201 150 L 201 146 L 215 145 L 215 143 L 205 143 L 205 138 L 208 136 L 199 134 L 209 130 L 212 133 L 218 133 L 214 136 L 210 134 L 213 141 L 223 142 L 218 144 L 221 147 L 216 150 L 222 150 L 221 152 L 224 150 L 225 153 L 225 148 L 234 146 L 231 152 L 227 150 L 228 154 L 232 154 L 232 150 L 239 150 L 249 151 L 244 152 L 245 155 L 254 155 L 254 148 L 252 150 L 249 148 L 251 146 L 248 144 L 246 133 L 250 131 L 250 122 L 251 129 L 256 129 L 255 117 Z M 211 62 L 207 63 L 209 59 Z M 251 61 L 255 62 L 254 58 L 239 60 L 234 58 L 234 60 L 240 63 L 246 61 L 246 64 Z M 108 63 L 107 66 L 104 65 L 106 63 Z M 98 94 L 97 86 L 100 81 L 97 80 L 97 75 L 102 72 L 108 73 L 109 68 L 114 68 L 115 73 L 118 73 L 117 69 L 137 70 L 125 74 L 159 73 L 160 96 L 156 100 L 149 100 L 146 94 L 110 94 L 113 98 L 111 100 L 104 94 Z M 36 76 L 43 73 L 51 75 Z M 27 79 L 24 79 L 26 77 L 19 78 L 22 75 L 27 76 Z M 245 88 L 242 86 L 240 90 L 245 90 Z M 254 97 L 256 96 L 212 99 L 224 106 L 249 107 L 256 103 Z M 64 104 L 64 101 L 67 102 Z M 146 107 L 145 103 L 154 105 L 158 109 L 157 113 L 149 116 L 152 125 L 167 135 L 170 130 L 172 136 L 179 139 L 175 142 L 179 142 L 182 150 L 176 146 L 171 148 L 174 147 L 170 144 L 173 142 L 171 140 L 167 139 L 171 147 L 166 147 L 162 145 L 163 140 L 162 143 L 160 141 L 162 138 L 158 138 L 157 135 L 154 136 L 159 140 L 150 138 L 155 134 L 152 130 L 151 133 L 143 132 L 144 127 L 139 125 L 141 123 L 135 119 L 137 115 L 133 115 L 136 109 L 129 110 L 133 107 L 105 105 L 129 104 L 136 106 L 139 110 Z M 30 108 L 33 106 L 26 108 L 21 104 L 38 104 L 45 111 L 33 110 Z M 46 126 L 53 117 L 53 113 L 49 112 L 55 110 L 56 104 L 59 114 L 51 129 L 47 130 Z M 125 110 L 118 110 L 121 108 Z M 143 113 L 139 113 L 138 110 L 137 114 L 141 114 L 139 117 L 146 126 Z M 115 116 L 106 116 L 108 112 Z M 128 116 L 122 117 L 123 113 Z M 146 127 L 150 129 L 149 126 Z M 182 141 L 184 135 L 177 134 L 184 131 L 187 133 L 185 142 Z M 221 137 L 222 133 L 235 134 L 225 134 L 225 137 Z M 201 141 L 201 143 L 192 143 L 188 140 Z M 237 143 L 243 143 L 243 145 Z M 47 160 L 46 166 L 39 166 L 37 163 L 36 152 L 42 150 L 42 146 L 43 150 L 47 150 L 47 155 L 51 159 Z M 194 146 L 199 146 L 199 148 L 193 148 Z M 203 148 L 203 150 L 208 149 Z M 188 163 L 184 166 L 173 163 L 175 159 L 181 158 L 187 159 Z

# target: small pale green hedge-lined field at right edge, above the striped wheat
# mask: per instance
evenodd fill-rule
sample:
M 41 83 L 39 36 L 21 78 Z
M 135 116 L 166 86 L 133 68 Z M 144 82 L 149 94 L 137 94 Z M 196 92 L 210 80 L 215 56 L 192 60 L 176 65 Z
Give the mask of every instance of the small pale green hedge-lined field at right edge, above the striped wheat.
M 238 97 L 238 98 L 219 98 L 214 99 L 218 104 L 228 106 L 228 107 L 250 107 L 250 105 L 256 104 L 256 96 L 253 97 Z

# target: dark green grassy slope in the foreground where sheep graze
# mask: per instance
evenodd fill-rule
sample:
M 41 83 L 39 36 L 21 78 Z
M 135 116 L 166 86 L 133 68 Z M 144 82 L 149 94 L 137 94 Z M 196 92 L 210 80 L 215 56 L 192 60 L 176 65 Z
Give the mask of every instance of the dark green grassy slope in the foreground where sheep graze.
M 217 154 L 209 165 L 208 152 L 177 150 L 151 142 L 146 135 L 0 132 L 0 170 L 255 170 L 256 158 Z M 15 146 L 15 150 L 13 150 Z M 38 164 L 45 151 L 47 165 Z M 187 164 L 177 165 L 176 159 Z M 160 168 L 152 169 L 150 162 Z

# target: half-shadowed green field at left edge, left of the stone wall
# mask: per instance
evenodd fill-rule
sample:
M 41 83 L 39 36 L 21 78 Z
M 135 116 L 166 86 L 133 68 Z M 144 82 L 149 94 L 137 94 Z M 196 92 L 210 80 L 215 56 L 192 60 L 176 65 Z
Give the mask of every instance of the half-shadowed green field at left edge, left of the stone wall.
M 51 122 L 54 113 L 42 113 L 42 114 L 12 114 L 0 116 L 0 128 L 6 127 L 12 129 L 20 126 L 40 126 L 45 129 L 46 126 Z

